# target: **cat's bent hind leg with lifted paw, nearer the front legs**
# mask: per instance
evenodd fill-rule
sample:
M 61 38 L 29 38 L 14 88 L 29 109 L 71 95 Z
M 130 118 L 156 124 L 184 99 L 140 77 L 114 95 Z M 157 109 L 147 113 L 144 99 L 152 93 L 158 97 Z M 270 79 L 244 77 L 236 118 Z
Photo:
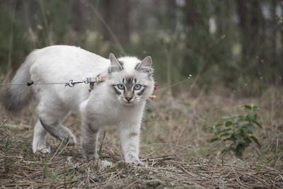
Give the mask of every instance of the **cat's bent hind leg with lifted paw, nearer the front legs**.
M 41 101 L 37 105 L 37 115 L 40 123 L 52 136 L 57 137 L 57 139 L 69 146 L 73 146 L 76 144 L 76 137 L 71 130 L 62 125 L 62 120 L 69 111 L 62 104 L 53 102 Z

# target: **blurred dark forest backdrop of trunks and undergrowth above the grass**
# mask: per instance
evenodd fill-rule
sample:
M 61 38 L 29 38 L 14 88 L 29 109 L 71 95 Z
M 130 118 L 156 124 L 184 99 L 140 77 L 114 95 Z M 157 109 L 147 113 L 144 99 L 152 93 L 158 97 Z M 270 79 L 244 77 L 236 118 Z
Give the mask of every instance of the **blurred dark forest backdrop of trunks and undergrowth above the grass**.
M 278 0 L 1 0 L 0 72 L 35 48 L 76 45 L 151 55 L 158 84 L 192 74 L 207 90 L 260 94 L 283 84 L 282 10 Z

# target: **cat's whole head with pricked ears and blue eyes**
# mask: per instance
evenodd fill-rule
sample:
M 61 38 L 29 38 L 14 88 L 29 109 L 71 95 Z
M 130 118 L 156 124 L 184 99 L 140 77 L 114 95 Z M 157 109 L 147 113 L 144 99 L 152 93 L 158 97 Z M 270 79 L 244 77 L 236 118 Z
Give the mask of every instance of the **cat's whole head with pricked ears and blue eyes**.
M 110 54 L 108 79 L 112 95 L 123 105 L 138 105 L 154 91 L 151 57 L 142 61 L 137 57 L 116 58 Z

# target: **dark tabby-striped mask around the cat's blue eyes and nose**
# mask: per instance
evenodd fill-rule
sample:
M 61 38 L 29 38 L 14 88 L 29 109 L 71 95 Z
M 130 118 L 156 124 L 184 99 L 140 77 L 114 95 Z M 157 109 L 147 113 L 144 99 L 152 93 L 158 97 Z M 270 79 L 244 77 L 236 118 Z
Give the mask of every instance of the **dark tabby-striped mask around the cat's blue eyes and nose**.
M 134 77 L 123 78 L 121 84 L 115 84 L 113 86 L 115 93 L 119 96 L 123 96 L 127 103 L 130 103 L 132 99 L 141 96 L 146 88 L 146 86 L 139 84 Z

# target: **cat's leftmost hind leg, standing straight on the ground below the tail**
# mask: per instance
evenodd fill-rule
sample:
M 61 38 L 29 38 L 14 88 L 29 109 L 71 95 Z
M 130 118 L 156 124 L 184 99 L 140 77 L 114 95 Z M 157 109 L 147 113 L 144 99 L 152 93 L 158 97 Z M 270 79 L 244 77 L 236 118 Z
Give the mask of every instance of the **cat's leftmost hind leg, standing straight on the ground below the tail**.
M 45 142 L 45 136 L 47 131 L 41 125 L 40 120 L 35 123 L 35 129 L 33 131 L 33 153 L 40 151 L 41 153 L 50 153 L 50 148 L 47 147 Z

